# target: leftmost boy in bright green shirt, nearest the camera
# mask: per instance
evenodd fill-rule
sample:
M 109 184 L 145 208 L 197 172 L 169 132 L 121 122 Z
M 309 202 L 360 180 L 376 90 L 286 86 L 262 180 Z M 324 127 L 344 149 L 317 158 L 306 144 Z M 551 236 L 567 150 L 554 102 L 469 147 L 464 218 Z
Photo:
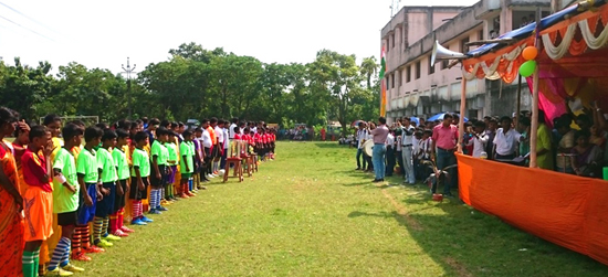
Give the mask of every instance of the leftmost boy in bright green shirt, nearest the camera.
M 53 212 L 57 214 L 57 225 L 61 226 L 59 241 L 49 264 L 49 274 L 65 276 L 64 271 L 80 273 L 84 268 L 70 264 L 70 246 L 72 234 L 77 223 L 78 177 L 76 160 L 70 151 L 80 146 L 84 130 L 74 124 L 63 127 L 64 145 L 55 153 L 53 161 Z

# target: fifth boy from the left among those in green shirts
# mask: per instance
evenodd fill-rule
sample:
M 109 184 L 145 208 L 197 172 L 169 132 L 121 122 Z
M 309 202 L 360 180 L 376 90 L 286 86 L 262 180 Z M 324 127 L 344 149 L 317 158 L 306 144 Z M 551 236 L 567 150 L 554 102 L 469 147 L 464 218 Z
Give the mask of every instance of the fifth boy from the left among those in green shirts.
M 144 147 L 148 145 L 148 134 L 138 131 L 135 134 L 135 149 L 133 150 L 133 170 L 130 172 L 129 199 L 133 201 L 133 221 L 134 225 L 146 225 L 153 220 L 144 216 L 143 199 L 148 198 L 148 185 L 150 184 L 150 158 Z

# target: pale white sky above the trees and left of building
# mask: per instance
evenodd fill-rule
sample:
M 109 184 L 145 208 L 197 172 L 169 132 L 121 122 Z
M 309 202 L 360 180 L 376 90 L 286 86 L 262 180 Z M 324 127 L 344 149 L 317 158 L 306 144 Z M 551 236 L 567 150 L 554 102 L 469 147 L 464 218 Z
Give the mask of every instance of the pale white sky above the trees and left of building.
M 0 0 L 0 56 L 8 64 L 77 62 L 114 73 L 167 61 L 196 42 L 263 63 L 308 63 L 323 49 L 379 60 L 391 0 Z M 401 0 L 403 6 L 476 0 Z

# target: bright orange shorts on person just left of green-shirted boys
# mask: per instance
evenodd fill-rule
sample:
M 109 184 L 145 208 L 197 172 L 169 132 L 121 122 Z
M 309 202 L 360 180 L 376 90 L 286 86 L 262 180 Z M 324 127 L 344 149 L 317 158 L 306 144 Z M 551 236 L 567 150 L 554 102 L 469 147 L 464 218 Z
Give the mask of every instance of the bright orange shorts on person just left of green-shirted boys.
M 53 193 L 40 187 L 28 187 L 23 196 L 24 241 L 46 241 L 53 234 Z

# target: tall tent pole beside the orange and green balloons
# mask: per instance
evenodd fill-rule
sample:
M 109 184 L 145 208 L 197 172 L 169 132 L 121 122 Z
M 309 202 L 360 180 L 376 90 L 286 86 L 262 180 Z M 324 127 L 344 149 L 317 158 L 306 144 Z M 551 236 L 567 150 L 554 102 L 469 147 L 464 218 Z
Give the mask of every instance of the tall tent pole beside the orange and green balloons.
M 538 53 L 542 52 L 541 46 L 541 35 L 537 34 L 538 31 L 541 31 L 541 28 L 538 26 L 541 24 L 541 8 L 536 8 L 536 49 L 538 50 Z M 536 65 L 536 70 L 534 70 L 534 77 L 533 77 L 533 84 L 532 84 L 532 126 L 530 130 L 530 167 L 536 168 L 536 140 L 537 140 L 537 132 L 538 132 L 538 72 L 541 65 Z

